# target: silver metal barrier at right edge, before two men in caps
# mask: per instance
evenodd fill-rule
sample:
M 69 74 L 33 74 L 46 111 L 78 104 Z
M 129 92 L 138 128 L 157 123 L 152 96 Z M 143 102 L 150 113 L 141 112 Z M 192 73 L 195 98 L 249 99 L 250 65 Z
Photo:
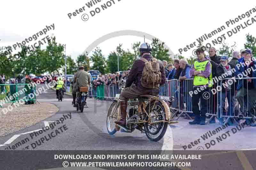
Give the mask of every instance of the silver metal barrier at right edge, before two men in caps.
M 222 91 L 218 92 L 220 124 L 238 125 L 241 119 L 249 123 L 255 122 L 256 89 L 248 85 L 248 80 L 256 82 L 256 78 L 225 78 L 220 81 L 222 85 Z M 224 85 L 228 88 L 223 90 Z M 240 89 L 237 91 L 238 86 Z

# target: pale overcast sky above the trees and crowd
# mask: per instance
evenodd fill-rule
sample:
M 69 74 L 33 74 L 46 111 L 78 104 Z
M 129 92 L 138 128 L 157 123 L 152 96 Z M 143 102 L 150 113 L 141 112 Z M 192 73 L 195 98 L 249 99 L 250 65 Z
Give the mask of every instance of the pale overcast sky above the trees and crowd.
M 223 0 L 212 1 L 166 1 L 166 0 L 113 0 L 115 4 L 102 10 L 100 5 L 108 0 L 88 8 L 84 1 L 50 1 L 44 0 L 36 2 L 26 1 L 3 1 L 1 2 L 1 25 L 0 25 L 0 46 L 13 45 L 24 41 L 25 38 L 42 31 L 45 26 L 54 23 L 55 29 L 48 31 L 46 35 L 54 34 L 57 42 L 67 44 L 67 55 L 72 55 L 76 59 L 78 54 L 84 52 L 95 40 L 100 37 L 121 30 L 134 30 L 148 33 L 164 41 L 174 54 L 179 53 L 179 48 L 196 41 L 204 33 L 211 33 L 220 26 L 226 29 L 210 38 L 211 42 L 232 28 L 243 24 L 248 19 L 256 16 L 252 13 L 249 18 L 244 18 L 235 25 L 227 27 L 225 22 L 235 19 L 238 15 L 256 8 L 255 1 L 239 1 L 239 3 Z M 109 4 L 109 3 L 108 3 Z M 68 18 L 68 13 L 73 13 L 76 9 L 82 8 L 85 11 Z M 100 13 L 91 16 L 90 11 L 100 7 Z M 83 21 L 82 14 L 88 14 L 89 19 Z M 256 17 L 255 17 L 256 19 Z M 250 21 L 251 23 L 252 21 Z M 241 29 L 240 32 L 231 37 L 227 37 L 229 44 L 237 43 L 237 49 L 243 48 L 245 34 L 250 33 L 256 37 L 256 23 Z M 39 39 L 46 35 L 41 35 Z M 123 47 L 131 48 L 133 42 L 143 41 L 137 36 L 119 36 L 106 40 L 98 47 L 102 49 L 104 55 L 115 50 L 119 43 Z M 33 44 L 36 41 L 31 41 Z M 197 45 L 196 41 L 196 45 Z M 218 48 L 218 47 L 217 47 Z M 195 48 L 182 53 L 189 57 Z

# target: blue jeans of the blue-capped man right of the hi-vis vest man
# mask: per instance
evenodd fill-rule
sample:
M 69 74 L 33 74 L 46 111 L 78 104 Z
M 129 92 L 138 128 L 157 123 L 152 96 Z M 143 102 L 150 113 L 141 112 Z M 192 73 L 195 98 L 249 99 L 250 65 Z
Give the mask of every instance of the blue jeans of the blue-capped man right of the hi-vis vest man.
M 222 93 L 221 94 L 221 100 L 222 100 L 222 103 L 221 103 L 221 105 L 220 105 L 220 93 Z M 226 93 L 227 93 L 227 95 L 226 95 Z M 220 112 L 219 112 L 219 116 L 220 116 L 220 113 L 221 112 L 223 112 L 223 105 L 224 105 L 224 103 L 225 103 L 225 101 L 226 101 L 226 97 L 227 97 L 227 99 L 228 99 L 228 112 L 227 112 L 227 116 L 234 116 L 234 109 L 235 109 L 235 100 L 234 100 L 234 95 L 232 95 L 231 94 L 231 92 L 230 92 L 230 90 L 229 91 L 227 91 L 227 92 L 219 92 L 219 106 L 220 106 L 220 108 L 219 108 L 219 110 L 220 110 Z M 222 115 L 226 115 L 226 112 L 223 112 L 223 114 Z

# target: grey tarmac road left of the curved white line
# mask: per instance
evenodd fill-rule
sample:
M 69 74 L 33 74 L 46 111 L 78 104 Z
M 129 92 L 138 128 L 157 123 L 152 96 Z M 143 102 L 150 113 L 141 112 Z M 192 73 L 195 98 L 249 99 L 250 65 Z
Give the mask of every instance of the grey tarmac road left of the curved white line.
M 84 108 L 84 113 L 77 113 L 76 108 L 71 105 L 71 96 L 64 95 L 63 101 L 59 102 L 53 90 L 43 92 L 37 97 L 37 100 L 39 102 L 50 102 L 56 105 L 59 108 L 59 112 L 42 122 L 36 123 L 36 125 L 1 137 L 0 144 L 4 144 L 15 134 L 43 128 L 45 126 L 44 122 L 59 120 L 60 117 L 69 113 L 71 113 L 71 119 L 65 120 L 63 123 L 66 124 L 68 130 L 58 134 L 58 137 L 54 137 L 44 144 L 37 146 L 35 150 L 161 150 L 164 140 L 170 142 L 170 139 L 161 139 L 158 142 L 151 142 L 145 134 L 141 134 L 138 130 L 135 130 L 133 133 L 117 132 L 115 135 L 109 135 L 106 129 L 106 116 L 108 107 L 111 104 L 110 102 L 88 99 L 87 103 L 89 108 Z M 51 110 L 49 110 L 49 112 L 51 112 Z M 168 129 L 168 132 L 170 132 L 170 129 Z M 29 137 L 29 134 L 21 135 L 10 145 L 26 137 Z M 35 138 L 35 141 L 36 139 L 37 138 Z M 26 147 L 25 144 L 23 146 Z M 24 147 L 20 146 L 17 150 L 23 149 Z M 172 148 L 172 143 L 170 146 L 169 144 L 165 146 L 165 148 L 170 147 Z M 0 149 L 4 148 L 6 148 L 6 146 L 0 147 Z

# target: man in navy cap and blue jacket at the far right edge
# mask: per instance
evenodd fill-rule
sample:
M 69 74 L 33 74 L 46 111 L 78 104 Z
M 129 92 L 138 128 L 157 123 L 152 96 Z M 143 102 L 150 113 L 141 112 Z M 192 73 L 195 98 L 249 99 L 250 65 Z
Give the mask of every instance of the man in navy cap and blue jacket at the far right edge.
M 239 78 L 239 82 L 236 87 L 236 98 L 240 104 L 241 112 L 243 112 L 244 114 L 248 112 L 248 116 L 252 116 L 252 114 L 254 113 L 253 106 L 256 101 L 256 79 L 243 80 L 240 78 L 256 77 L 256 60 L 254 57 L 252 57 L 252 51 L 250 49 L 246 49 L 242 52 L 242 54 L 243 53 L 244 57 L 238 59 L 238 62 L 236 64 L 235 76 Z M 250 120 L 247 120 L 247 124 L 250 123 Z

